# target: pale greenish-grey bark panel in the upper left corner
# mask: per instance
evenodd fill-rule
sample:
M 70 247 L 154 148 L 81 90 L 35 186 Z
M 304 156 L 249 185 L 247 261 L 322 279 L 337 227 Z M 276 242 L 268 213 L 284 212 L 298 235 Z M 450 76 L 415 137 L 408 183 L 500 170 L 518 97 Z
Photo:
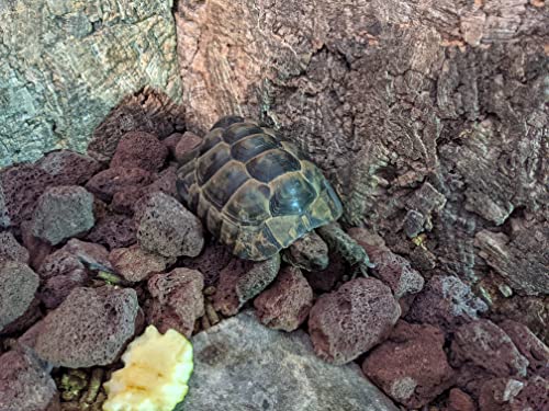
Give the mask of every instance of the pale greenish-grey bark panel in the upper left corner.
M 24 0 L 0 7 L 0 167 L 54 148 L 83 151 L 93 128 L 145 85 L 180 98 L 171 1 Z

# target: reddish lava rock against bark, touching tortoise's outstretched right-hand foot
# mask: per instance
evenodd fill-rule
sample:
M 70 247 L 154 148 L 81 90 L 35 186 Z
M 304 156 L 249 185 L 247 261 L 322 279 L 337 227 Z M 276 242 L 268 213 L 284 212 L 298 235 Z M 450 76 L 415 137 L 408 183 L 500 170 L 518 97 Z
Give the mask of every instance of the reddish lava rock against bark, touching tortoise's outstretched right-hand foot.
M 368 254 L 376 265 L 371 269 L 373 275 L 391 287 L 394 298 L 400 299 L 422 290 L 424 279 L 416 270 L 412 269 L 406 259 L 376 247 L 369 247 Z

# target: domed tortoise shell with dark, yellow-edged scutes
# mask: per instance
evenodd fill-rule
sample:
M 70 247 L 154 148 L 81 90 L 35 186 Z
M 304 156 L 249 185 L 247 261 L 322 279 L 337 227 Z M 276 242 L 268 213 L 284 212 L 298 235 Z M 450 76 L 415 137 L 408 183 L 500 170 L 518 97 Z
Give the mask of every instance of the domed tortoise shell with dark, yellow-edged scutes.
M 267 260 L 341 215 L 321 170 L 255 122 L 223 117 L 192 157 L 178 170 L 178 192 L 242 259 Z

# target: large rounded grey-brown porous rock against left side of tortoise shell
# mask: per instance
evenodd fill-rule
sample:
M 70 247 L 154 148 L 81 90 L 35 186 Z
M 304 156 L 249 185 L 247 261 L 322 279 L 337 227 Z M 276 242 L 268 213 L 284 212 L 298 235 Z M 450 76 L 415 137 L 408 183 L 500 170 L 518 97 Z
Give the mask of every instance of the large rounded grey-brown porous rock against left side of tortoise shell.
M 137 240 L 165 256 L 197 256 L 204 246 L 202 224 L 176 198 L 152 193 L 136 205 Z

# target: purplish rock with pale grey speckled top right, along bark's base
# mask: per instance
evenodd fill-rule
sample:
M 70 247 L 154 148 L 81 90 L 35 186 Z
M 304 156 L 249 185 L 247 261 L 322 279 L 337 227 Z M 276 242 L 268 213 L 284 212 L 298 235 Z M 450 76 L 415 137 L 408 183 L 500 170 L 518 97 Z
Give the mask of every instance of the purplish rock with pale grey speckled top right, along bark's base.
M 406 320 L 428 323 L 452 331 L 456 327 L 479 318 L 488 306 L 458 277 L 435 275 L 417 294 Z

